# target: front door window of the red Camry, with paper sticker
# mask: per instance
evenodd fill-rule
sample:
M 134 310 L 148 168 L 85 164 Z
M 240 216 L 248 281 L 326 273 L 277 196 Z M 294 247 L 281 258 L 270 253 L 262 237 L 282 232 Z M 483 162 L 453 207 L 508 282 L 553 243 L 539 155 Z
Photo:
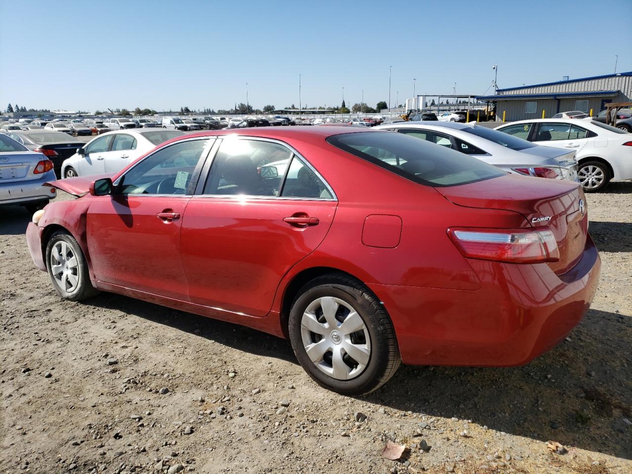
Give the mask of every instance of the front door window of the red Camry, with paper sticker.
M 188 140 L 158 150 L 128 171 L 120 194 L 185 195 L 193 171 L 214 139 Z

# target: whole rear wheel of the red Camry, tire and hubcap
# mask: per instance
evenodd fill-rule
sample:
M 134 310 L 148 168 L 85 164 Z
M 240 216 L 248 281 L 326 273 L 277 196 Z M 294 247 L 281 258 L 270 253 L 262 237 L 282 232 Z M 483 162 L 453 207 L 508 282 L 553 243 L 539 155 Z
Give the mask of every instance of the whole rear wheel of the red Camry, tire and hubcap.
M 401 364 L 391 319 L 357 280 L 318 277 L 303 286 L 289 315 L 298 362 L 317 384 L 339 394 L 368 394 Z

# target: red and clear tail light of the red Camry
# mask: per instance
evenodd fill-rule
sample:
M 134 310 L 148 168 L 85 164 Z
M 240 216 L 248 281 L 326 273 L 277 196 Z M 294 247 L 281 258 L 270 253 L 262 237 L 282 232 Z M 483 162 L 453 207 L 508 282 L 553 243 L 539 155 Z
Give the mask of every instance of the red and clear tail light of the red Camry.
M 549 228 L 447 230 L 463 257 L 512 264 L 557 262 L 559 250 Z

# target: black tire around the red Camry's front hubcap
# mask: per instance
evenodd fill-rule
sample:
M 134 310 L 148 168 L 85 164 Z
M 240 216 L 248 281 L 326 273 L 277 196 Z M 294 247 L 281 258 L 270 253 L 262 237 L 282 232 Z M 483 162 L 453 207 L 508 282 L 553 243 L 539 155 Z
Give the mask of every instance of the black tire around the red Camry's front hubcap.
M 53 275 L 51 255 L 53 252 L 53 247 L 57 243 L 61 242 L 64 242 L 66 243 L 66 245 L 68 245 L 77 260 L 76 277 L 78 283 L 76 284 L 75 288 L 71 289 L 71 291 L 66 291 L 66 289 L 62 288 L 58 283 L 56 277 Z M 88 264 L 85 261 L 85 257 L 83 256 L 81 247 L 79 246 L 75 238 L 68 234 L 66 231 L 57 231 L 53 233 L 51 235 L 51 238 L 49 238 L 48 242 L 46 243 L 46 268 L 48 270 L 48 276 L 51 279 L 52 288 L 54 288 L 57 294 L 64 298 L 64 300 L 83 301 L 99 295 L 99 290 L 95 289 L 90 282 Z

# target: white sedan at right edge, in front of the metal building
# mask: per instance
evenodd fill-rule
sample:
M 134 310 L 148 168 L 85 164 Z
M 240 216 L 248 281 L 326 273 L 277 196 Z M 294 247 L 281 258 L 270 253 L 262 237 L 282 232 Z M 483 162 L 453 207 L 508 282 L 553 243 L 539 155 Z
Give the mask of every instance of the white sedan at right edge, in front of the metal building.
M 538 145 L 575 150 L 578 179 L 586 192 L 601 191 L 611 179 L 632 179 L 632 135 L 605 123 L 577 119 L 533 119 L 496 130 Z

